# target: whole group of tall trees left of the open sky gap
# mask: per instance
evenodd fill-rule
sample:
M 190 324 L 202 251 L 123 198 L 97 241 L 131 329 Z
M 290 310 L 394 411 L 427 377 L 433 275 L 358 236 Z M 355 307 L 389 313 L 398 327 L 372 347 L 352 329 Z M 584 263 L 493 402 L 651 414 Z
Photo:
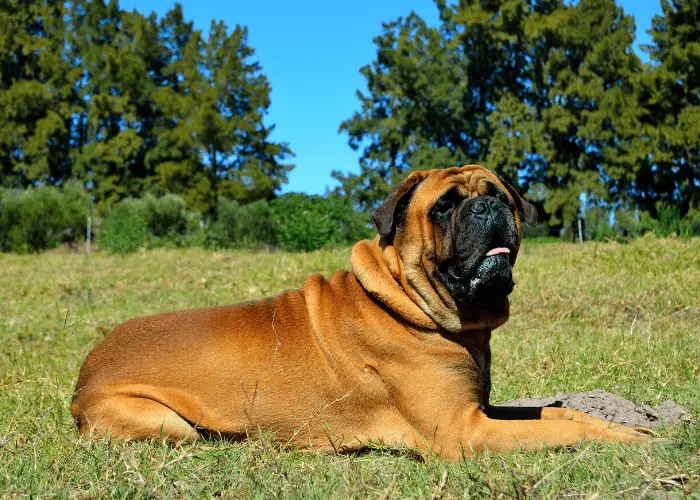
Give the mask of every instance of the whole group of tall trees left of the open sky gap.
M 77 180 L 99 211 L 150 192 L 211 213 L 272 199 L 292 168 L 264 123 L 270 85 L 245 28 L 204 36 L 116 0 L 0 2 L 0 185 Z

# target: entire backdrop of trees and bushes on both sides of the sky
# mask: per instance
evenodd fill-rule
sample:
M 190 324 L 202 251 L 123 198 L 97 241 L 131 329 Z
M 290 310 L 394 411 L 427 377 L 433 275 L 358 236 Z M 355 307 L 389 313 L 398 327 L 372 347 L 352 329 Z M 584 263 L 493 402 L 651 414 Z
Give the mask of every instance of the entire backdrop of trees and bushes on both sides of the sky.
M 340 125 L 360 171 L 334 172 L 340 187 L 322 198 L 280 196 L 293 154 L 270 139 L 270 85 L 245 28 L 212 22 L 205 36 L 178 4 L 158 18 L 116 0 L 0 2 L 0 247 L 71 243 L 89 211 L 107 246 L 120 217 L 138 216 L 146 236 L 130 248 L 317 248 L 368 231 L 410 171 L 465 163 L 534 201 L 535 232 L 583 219 L 591 237 L 698 233 L 700 0 L 661 0 L 649 63 L 615 0 L 435 5 L 437 26 L 410 14 L 375 38 L 360 109 Z M 25 211 L 59 199 L 55 217 Z M 188 214 L 168 230 L 179 236 L 148 215 L 159 204 Z M 316 234 L 317 212 L 338 227 L 286 236 Z

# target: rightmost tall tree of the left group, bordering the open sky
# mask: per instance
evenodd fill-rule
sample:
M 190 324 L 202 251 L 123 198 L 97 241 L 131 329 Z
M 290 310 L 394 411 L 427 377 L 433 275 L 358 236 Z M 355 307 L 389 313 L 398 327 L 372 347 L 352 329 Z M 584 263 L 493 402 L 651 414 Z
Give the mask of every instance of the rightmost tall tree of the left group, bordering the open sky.
M 172 22 L 179 17 L 171 14 Z M 164 111 L 159 143 L 148 156 L 156 186 L 181 193 L 192 208 L 209 212 L 219 196 L 247 203 L 271 199 L 287 181 L 292 156 L 269 140 L 263 118 L 270 86 L 248 45 L 247 31 L 213 22 L 209 39 L 184 34 L 165 71 L 169 85 L 155 99 Z M 202 71 L 202 68 L 204 70 Z

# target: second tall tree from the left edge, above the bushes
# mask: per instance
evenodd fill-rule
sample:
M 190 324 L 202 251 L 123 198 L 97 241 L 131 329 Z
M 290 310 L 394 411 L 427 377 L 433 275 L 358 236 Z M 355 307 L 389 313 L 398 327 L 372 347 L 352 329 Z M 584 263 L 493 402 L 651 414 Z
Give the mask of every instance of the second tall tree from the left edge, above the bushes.
M 157 117 L 150 97 L 154 19 L 121 11 L 116 0 L 77 0 L 71 18 L 84 106 L 74 174 L 91 184 L 102 209 L 138 196 L 152 182 L 144 156 L 155 142 L 152 123 Z

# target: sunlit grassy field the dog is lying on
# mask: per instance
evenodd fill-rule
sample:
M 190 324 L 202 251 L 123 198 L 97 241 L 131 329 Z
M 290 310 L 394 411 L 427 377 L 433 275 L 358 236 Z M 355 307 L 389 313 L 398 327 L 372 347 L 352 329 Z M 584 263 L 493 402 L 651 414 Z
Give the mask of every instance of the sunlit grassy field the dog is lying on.
M 88 441 L 70 416 L 80 364 L 116 324 L 229 304 L 348 267 L 311 254 L 154 250 L 0 254 L 0 495 L 42 497 L 646 497 L 700 490 L 700 240 L 526 242 L 510 321 L 493 340 L 495 402 L 602 388 L 672 399 L 692 419 L 641 448 L 482 455 L 457 465 L 408 451 L 345 456 L 262 439 L 171 447 Z

